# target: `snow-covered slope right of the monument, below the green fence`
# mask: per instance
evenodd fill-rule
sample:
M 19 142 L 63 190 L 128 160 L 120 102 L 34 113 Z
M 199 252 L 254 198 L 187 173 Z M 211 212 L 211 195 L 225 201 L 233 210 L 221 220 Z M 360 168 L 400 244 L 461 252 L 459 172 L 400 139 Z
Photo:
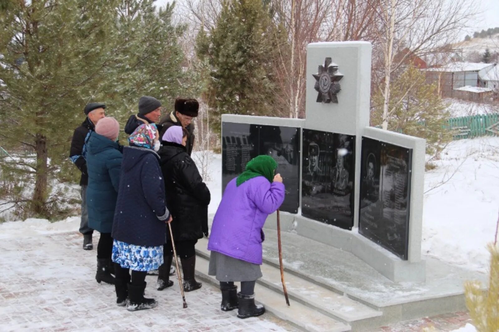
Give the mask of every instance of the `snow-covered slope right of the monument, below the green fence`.
M 486 272 L 499 214 L 499 138 L 454 141 L 435 164 L 425 175 L 423 254 Z

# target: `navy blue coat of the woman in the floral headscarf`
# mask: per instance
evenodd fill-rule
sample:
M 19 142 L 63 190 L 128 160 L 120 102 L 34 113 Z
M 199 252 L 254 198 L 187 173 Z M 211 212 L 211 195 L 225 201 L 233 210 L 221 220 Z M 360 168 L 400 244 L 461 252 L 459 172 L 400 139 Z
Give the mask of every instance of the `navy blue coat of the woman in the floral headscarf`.
M 146 247 L 165 244 L 165 222 L 170 213 L 162 177 L 159 156 L 153 150 L 123 148 L 111 233 L 114 239 Z

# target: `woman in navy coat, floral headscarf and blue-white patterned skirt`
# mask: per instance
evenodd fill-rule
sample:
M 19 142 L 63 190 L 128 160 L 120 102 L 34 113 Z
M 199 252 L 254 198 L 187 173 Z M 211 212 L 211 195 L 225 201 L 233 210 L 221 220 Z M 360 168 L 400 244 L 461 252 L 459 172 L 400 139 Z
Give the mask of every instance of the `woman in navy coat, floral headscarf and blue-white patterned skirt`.
M 154 299 L 144 298 L 145 279 L 147 271 L 163 264 L 166 223 L 172 217 L 165 205 L 165 183 L 155 152 L 159 149 L 156 127 L 140 125 L 128 141 L 114 212 L 112 259 L 116 303 L 135 311 L 157 305 Z

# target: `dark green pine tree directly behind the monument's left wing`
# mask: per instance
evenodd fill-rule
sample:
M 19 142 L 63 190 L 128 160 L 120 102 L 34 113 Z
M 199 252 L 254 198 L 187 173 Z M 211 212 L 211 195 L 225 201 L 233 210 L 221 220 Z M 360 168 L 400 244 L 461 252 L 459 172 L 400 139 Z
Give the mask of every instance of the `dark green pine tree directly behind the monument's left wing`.
M 213 108 L 213 129 L 222 114 L 275 116 L 285 104 L 276 81 L 277 49 L 286 43 L 261 0 L 226 0 L 216 26 L 198 36 L 198 57 L 208 56 L 211 78 L 207 102 Z M 278 47 L 279 46 L 279 47 Z

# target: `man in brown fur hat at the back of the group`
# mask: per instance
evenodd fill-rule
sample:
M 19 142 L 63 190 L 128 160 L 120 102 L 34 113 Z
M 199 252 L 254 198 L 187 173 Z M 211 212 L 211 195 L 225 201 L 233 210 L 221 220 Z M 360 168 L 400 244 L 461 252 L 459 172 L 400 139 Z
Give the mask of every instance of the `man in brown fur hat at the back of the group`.
M 165 134 L 166 130 L 172 126 L 182 126 L 187 129 L 187 144 L 186 149 L 189 156 L 194 147 L 194 123 L 193 118 L 198 116 L 199 103 L 196 99 L 177 98 L 175 100 L 175 110 L 167 114 L 160 120 L 163 127 L 160 130 L 160 139 Z

